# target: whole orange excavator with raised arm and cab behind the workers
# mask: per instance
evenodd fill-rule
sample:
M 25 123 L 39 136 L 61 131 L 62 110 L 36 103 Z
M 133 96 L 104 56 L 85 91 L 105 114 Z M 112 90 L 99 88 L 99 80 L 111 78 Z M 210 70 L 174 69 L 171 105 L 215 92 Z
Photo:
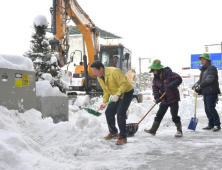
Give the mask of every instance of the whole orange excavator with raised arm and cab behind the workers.
M 103 93 L 97 78 L 93 74 L 90 64 L 99 60 L 104 66 L 110 66 L 113 58 L 117 57 L 116 67 L 120 68 L 128 80 L 135 86 L 136 72 L 131 68 L 132 52 L 122 44 L 118 45 L 98 45 L 98 31 L 94 22 L 80 7 L 77 0 L 53 0 L 53 6 L 50 8 L 52 15 L 51 32 L 53 39 L 50 40 L 51 49 L 58 52 L 57 59 L 61 67 L 73 61 L 71 53 L 68 62 L 69 53 L 69 27 L 68 23 L 72 20 L 83 36 L 85 44 L 83 45 L 83 61 L 75 67 L 75 72 L 70 82 L 67 92 L 68 96 L 77 95 L 78 92 L 98 96 Z M 85 45 L 88 57 L 85 53 Z M 142 102 L 142 95 L 134 94 L 134 100 Z

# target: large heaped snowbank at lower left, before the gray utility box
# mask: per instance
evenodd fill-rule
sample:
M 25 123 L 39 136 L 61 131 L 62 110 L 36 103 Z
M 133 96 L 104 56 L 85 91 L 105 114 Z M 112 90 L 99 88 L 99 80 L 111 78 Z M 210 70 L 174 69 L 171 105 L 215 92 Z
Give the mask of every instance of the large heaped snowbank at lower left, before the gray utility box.
M 51 118 L 42 120 L 36 110 L 18 113 L 0 106 L 0 112 L 0 169 L 64 169 L 78 156 L 113 152 L 108 144 L 101 144 L 100 122 L 95 116 L 81 116 L 83 111 L 58 124 Z

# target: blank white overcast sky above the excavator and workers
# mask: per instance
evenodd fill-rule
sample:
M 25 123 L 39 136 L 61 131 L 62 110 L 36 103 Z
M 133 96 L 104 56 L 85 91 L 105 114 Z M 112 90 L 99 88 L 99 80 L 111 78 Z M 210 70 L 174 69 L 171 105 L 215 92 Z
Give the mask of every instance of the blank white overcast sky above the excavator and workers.
M 180 72 L 190 66 L 191 54 L 203 53 L 204 45 L 222 40 L 220 0 L 78 2 L 96 26 L 124 38 L 135 67 L 138 57 L 148 57 Z M 1 6 L 0 54 L 22 55 L 29 49 L 35 16 L 45 15 L 51 25 L 52 0 L 10 0 Z M 209 48 L 209 52 L 220 52 L 220 47 Z M 148 60 L 142 63 L 143 71 L 147 70 Z

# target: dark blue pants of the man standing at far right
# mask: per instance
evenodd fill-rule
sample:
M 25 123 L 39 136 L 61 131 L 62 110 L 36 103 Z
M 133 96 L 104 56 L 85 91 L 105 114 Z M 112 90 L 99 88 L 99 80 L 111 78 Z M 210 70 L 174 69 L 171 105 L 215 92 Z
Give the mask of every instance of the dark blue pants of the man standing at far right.
M 209 120 L 208 125 L 210 127 L 220 126 L 220 117 L 215 109 L 217 100 L 217 94 L 204 95 L 205 112 Z

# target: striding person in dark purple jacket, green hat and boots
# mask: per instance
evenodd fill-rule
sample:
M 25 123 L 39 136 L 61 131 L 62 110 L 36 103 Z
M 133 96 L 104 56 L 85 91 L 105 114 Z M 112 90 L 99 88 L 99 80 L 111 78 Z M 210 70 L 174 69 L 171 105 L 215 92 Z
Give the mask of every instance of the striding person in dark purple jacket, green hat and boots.
M 154 60 L 153 64 L 148 67 L 150 68 L 150 73 L 153 72 L 153 95 L 156 104 L 160 103 L 157 115 L 154 118 L 153 125 L 151 129 L 144 131 L 152 135 L 156 135 L 156 131 L 159 128 L 160 122 L 162 121 L 167 109 L 170 107 L 170 112 L 172 115 L 172 120 L 177 127 L 177 133 L 175 137 L 182 137 L 182 125 L 180 117 L 178 116 L 178 109 L 180 101 L 180 93 L 177 87 L 182 83 L 182 78 L 177 73 L 172 72 L 169 67 L 164 67 L 161 65 L 160 60 Z M 161 95 L 166 92 L 165 96 L 160 100 Z

